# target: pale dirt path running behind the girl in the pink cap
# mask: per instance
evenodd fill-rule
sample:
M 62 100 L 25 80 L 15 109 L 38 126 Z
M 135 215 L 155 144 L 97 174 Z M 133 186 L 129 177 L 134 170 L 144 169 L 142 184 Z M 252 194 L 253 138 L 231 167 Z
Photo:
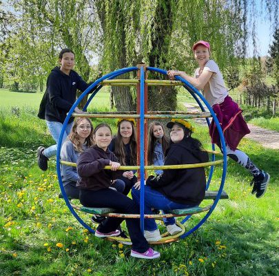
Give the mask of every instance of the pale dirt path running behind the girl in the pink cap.
M 184 103 L 184 106 L 189 111 L 200 111 L 200 108 L 196 103 Z M 209 118 L 211 119 L 211 118 Z M 205 119 L 194 119 L 198 124 L 207 125 Z M 245 138 L 254 140 L 260 143 L 265 148 L 272 148 L 274 150 L 279 150 L 279 132 L 274 130 L 267 130 L 265 128 L 260 128 L 259 126 L 254 126 L 248 124 L 251 133 L 246 135 Z

